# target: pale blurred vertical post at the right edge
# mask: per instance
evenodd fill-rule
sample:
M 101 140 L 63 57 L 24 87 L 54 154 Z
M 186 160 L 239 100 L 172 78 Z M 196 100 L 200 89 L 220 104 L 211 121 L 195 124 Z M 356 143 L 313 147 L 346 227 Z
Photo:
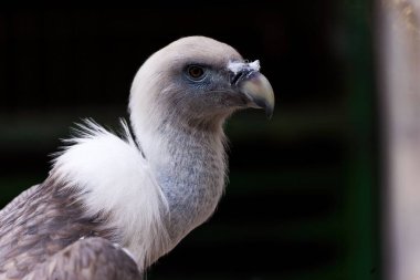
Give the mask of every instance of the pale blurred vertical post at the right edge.
M 420 279 L 419 1 L 378 3 L 379 69 L 387 165 L 385 276 Z

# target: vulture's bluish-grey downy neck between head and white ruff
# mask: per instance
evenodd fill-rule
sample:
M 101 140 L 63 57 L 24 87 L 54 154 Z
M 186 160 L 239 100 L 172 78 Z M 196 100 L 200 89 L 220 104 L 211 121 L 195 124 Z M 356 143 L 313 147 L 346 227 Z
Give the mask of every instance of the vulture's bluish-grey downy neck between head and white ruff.
M 175 246 L 214 211 L 227 172 L 220 118 L 203 125 L 177 122 L 134 123 L 137 141 L 168 201 L 166 227 Z

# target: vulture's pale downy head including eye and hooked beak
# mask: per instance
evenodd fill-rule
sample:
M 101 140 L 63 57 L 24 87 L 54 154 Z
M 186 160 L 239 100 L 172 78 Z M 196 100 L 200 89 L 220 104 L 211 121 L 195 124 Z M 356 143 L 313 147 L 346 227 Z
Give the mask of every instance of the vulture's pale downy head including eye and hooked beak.
M 134 80 L 129 102 L 132 123 L 141 127 L 147 120 L 216 129 L 245 107 L 273 113 L 273 90 L 259 61 L 249 63 L 232 46 L 204 37 L 182 38 L 153 54 Z M 145 115 L 160 120 L 150 123 Z

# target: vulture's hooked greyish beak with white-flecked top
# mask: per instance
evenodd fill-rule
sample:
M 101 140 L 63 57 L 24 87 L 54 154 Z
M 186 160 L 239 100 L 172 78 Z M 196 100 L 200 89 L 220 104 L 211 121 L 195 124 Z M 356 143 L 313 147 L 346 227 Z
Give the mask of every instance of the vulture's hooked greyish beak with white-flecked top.
M 269 80 L 260 73 L 260 65 L 253 66 L 250 64 L 253 63 L 243 63 L 239 71 L 232 72 L 231 83 L 238 86 L 239 91 L 245 95 L 251 107 L 264 108 L 267 118 L 271 118 L 274 111 L 273 87 Z

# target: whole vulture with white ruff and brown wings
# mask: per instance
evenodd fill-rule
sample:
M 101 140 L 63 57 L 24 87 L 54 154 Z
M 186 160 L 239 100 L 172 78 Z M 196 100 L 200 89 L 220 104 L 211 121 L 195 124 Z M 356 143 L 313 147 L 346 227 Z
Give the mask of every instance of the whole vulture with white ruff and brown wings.
M 143 279 L 214 211 L 227 176 L 225 120 L 274 93 L 260 62 L 206 37 L 149 56 L 129 122 L 92 120 L 64 141 L 48 178 L 0 211 L 0 280 Z

